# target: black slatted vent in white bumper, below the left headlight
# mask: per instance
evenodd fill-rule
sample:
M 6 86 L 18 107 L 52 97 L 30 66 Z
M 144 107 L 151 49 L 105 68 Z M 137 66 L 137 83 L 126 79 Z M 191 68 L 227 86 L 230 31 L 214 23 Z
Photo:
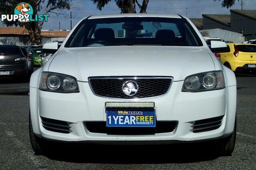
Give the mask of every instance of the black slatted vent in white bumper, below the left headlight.
M 58 132 L 58 133 L 70 133 L 70 126 L 66 121 L 60 121 L 55 119 L 48 119 L 41 117 L 42 126 L 48 131 Z

